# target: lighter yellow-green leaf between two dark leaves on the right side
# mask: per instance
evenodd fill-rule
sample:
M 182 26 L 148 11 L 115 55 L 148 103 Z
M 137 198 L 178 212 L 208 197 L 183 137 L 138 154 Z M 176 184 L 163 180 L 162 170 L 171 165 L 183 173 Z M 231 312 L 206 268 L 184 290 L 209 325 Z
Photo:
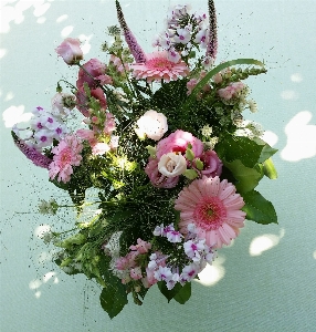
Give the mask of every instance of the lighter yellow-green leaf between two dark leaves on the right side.
M 231 163 L 224 162 L 224 166 L 232 172 L 234 178 L 238 180 L 235 187 L 239 193 L 252 190 L 257 186 L 259 181 L 263 177 L 263 173 L 260 167 L 245 167 L 239 159 Z

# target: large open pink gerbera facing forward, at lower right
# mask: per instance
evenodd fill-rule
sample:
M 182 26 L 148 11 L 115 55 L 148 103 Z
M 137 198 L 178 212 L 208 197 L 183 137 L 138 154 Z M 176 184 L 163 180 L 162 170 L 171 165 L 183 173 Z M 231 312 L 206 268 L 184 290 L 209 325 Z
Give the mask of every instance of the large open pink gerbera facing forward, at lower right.
M 203 177 L 193 180 L 180 191 L 175 209 L 180 211 L 180 231 L 188 232 L 194 224 L 200 239 L 208 246 L 221 248 L 229 245 L 243 227 L 245 212 L 243 198 L 227 179 Z

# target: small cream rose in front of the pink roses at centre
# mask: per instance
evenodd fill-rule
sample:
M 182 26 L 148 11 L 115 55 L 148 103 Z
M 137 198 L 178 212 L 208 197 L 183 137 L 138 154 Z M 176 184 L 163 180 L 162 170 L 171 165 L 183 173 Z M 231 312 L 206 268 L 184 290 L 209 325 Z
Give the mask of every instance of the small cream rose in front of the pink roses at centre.
M 187 160 L 181 154 L 168 153 L 158 163 L 158 170 L 167 177 L 176 177 L 187 169 Z

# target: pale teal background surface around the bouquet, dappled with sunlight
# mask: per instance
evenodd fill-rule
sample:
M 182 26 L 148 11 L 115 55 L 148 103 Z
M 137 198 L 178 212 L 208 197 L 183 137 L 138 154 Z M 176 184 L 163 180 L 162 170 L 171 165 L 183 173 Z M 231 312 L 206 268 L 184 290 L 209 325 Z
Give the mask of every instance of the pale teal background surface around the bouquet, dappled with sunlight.
M 120 2 L 149 52 L 168 7 L 177 2 Z M 207 0 L 191 4 L 207 9 Z M 54 52 L 64 38 L 84 41 L 86 60 L 102 59 L 104 32 L 117 22 L 114 0 L 1 0 L 0 331 L 316 331 L 316 1 L 217 0 L 215 6 L 218 61 L 255 58 L 268 69 L 247 80 L 259 113 L 246 117 L 261 123 L 280 149 L 274 157 L 280 178 L 260 185 L 280 224 L 247 221 L 193 282 L 187 304 L 167 304 L 154 287 L 144 305 L 130 303 L 110 321 L 99 308 L 97 286 L 56 269 L 38 238 L 41 229 L 70 228 L 74 219 L 38 214 L 40 199 L 64 193 L 19 153 L 10 127 L 28 120 L 34 106 L 49 107 L 59 79 L 75 81 L 76 70 Z

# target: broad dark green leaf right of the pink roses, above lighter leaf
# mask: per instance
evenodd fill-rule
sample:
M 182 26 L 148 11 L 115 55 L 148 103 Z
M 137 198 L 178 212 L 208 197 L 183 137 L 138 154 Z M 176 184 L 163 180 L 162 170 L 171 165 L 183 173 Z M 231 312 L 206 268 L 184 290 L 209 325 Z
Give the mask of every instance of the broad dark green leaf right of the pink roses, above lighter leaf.
M 227 135 L 217 144 L 215 151 L 222 160 L 231 163 L 240 159 L 244 166 L 253 168 L 260 159 L 263 147 L 247 137 Z

